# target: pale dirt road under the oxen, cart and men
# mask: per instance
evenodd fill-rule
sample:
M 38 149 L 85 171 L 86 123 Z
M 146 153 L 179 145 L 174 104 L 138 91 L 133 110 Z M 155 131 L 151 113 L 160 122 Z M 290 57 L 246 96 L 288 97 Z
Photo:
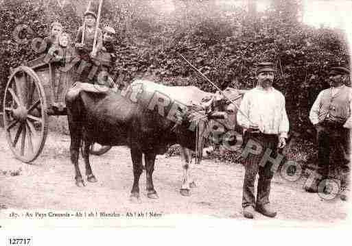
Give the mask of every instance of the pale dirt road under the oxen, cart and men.
M 242 219 L 242 182 L 244 169 L 239 164 L 204 160 L 194 167 L 197 187 L 190 197 L 179 193 L 182 170 L 180 158 L 156 160 L 154 187 L 159 199 L 145 194 L 145 175 L 141 176 L 141 204 L 129 201 L 132 188 L 130 151 L 114 147 L 103 156 L 92 156 L 92 169 L 98 182 L 84 188 L 75 186 L 73 166 L 69 160 L 69 137 L 50 133 L 45 149 L 32 164 L 16 160 L 0 130 L 0 212 L 11 209 L 35 210 L 150 210 L 163 214 L 204 214 L 211 217 Z M 80 168 L 84 173 L 82 159 Z M 9 172 L 18 170 L 20 175 Z M 272 182 L 271 201 L 277 219 L 338 222 L 347 216 L 347 203 L 335 199 L 322 201 L 316 194 L 305 193 L 304 180 L 288 182 L 279 175 Z M 1 210 L 1 208 L 3 208 Z M 8 208 L 8 209 L 4 209 Z M 261 214 L 256 219 L 266 219 Z

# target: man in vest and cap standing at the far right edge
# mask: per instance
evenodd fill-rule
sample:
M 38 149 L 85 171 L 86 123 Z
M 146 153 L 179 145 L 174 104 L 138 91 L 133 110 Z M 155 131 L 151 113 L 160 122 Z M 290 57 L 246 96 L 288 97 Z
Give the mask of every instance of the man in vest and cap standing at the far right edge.
M 309 113 L 309 119 L 316 127 L 318 138 L 318 175 L 307 192 L 317 193 L 320 182 L 329 178 L 330 158 L 335 167 L 340 165 L 340 198 L 347 200 L 350 173 L 350 132 L 352 127 L 352 88 L 343 84 L 349 77 L 344 67 L 330 69 L 331 88 L 322 90 Z M 325 185 L 322 185 L 322 187 Z

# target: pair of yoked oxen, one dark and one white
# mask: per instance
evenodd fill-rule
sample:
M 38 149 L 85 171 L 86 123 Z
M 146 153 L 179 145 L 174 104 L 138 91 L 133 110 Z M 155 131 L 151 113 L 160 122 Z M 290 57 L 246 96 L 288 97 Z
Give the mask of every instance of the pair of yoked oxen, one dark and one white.
M 130 199 L 134 202 L 140 202 L 139 177 L 143 169 L 146 171 L 148 197 L 158 198 L 152 180 L 156 155 L 165 153 L 174 144 L 181 146 L 183 159 L 180 193 L 189 195 L 190 188 L 194 186 L 190 175 L 194 151 L 202 151 L 202 138 L 209 138 L 218 130 L 219 125 L 211 127 L 216 125 L 211 121 L 219 121 L 227 130 L 234 129 L 237 107 L 243 94 L 243 90 L 226 88 L 220 97 L 220 94 L 206 93 L 195 86 L 163 86 L 145 80 L 134 81 L 122 91 L 101 89 L 100 86 L 77 82 L 66 95 L 75 183 L 77 186 L 85 185 L 78 167 L 82 142 L 88 182 L 97 181 L 89 162 L 92 143 L 126 145 L 130 148 L 133 164 Z M 204 98 L 210 100 L 202 103 Z M 215 119 L 217 117 L 222 119 Z

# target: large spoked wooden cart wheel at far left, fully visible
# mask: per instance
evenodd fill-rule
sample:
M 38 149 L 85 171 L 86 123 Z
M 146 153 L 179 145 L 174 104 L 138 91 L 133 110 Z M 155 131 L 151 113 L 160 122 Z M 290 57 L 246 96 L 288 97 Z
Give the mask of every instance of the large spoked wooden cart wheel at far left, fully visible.
M 14 69 L 6 84 L 3 125 L 16 158 L 32 162 L 40 155 L 47 138 L 47 100 L 38 75 L 27 66 Z

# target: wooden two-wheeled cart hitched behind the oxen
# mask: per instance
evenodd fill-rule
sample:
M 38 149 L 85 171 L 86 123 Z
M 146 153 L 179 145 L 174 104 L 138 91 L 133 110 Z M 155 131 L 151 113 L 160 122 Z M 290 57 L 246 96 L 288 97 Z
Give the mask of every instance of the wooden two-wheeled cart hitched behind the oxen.
M 75 67 L 65 71 L 61 61 L 46 62 L 46 55 L 16 69 L 5 87 L 3 126 L 14 156 L 32 162 L 43 150 L 48 133 L 48 116 L 66 115 L 64 96 L 77 81 Z M 91 153 L 106 153 L 110 146 L 92 145 Z

